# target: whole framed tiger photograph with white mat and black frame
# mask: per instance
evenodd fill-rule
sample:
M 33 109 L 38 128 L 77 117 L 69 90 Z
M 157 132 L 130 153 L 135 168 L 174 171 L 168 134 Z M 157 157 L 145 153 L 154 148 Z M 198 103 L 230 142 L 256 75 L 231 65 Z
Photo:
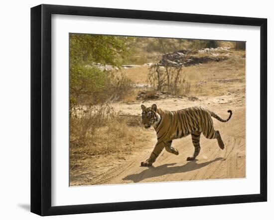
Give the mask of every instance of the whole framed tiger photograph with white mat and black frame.
M 31 212 L 267 201 L 267 19 L 31 8 Z

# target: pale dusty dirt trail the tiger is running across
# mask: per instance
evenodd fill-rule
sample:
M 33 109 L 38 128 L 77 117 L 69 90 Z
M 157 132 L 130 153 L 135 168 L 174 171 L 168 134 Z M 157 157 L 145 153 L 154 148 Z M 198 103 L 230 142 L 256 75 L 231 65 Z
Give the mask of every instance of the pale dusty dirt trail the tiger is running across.
M 218 100 L 222 99 L 222 97 L 214 97 L 214 99 L 206 98 L 205 100 L 201 100 L 200 104 L 205 105 L 206 103 L 210 103 L 211 106 L 215 105 L 213 108 L 214 111 L 223 118 L 226 118 L 227 110 L 229 106 L 231 108 L 231 103 L 230 101 L 223 104 L 218 103 Z M 224 100 L 229 99 L 226 98 Z M 99 175 L 93 176 L 92 178 L 88 178 L 88 175 L 85 175 L 88 181 L 85 181 L 84 185 L 245 177 L 246 131 L 244 100 L 241 100 L 243 101 L 241 102 L 237 100 L 237 97 L 235 97 L 235 99 L 231 98 L 231 100 L 231 102 L 234 102 L 232 105 L 232 119 L 226 123 L 213 119 L 214 127 L 220 131 L 225 143 L 224 150 L 218 147 L 216 140 L 208 140 L 204 136 L 201 136 L 200 154 L 195 161 L 186 161 L 186 157 L 192 155 L 194 150 L 191 136 L 188 136 L 173 141 L 172 146 L 179 150 L 178 156 L 163 150 L 152 167 L 140 167 L 140 161 L 145 160 L 149 156 L 156 143 L 155 132 L 151 128 L 150 130 L 145 130 L 151 137 L 150 144 L 143 146 L 141 150 L 134 153 L 130 159 L 120 161 L 119 164 L 111 168 L 106 167 L 104 170 L 101 170 Z M 147 105 L 152 103 L 150 102 L 147 103 Z M 165 107 L 171 107 L 171 109 L 176 109 L 176 107 L 179 109 L 182 105 L 197 105 L 197 103 L 193 102 L 186 103 L 185 100 L 178 100 L 176 104 L 174 100 L 164 100 L 164 102 Z M 158 101 L 157 104 L 160 106 L 160 101 Z M 216 106 L 218 106 L 218 108 Z M 133 106 L 130 105 L 128 107 L 132 109 Z M 125 106 L 121 106 L 120 104 L 119 108 L 126 111 L 121 112 L 121 114 L 127 114 L 127 108 Z M 131 114 L 134 114 L 134 112 L 131 111 Z

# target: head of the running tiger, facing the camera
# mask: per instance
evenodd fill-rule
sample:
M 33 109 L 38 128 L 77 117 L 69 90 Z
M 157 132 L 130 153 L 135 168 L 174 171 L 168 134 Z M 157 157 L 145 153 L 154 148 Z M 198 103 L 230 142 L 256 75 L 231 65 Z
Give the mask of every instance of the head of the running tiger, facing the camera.
M 160 119 L 159 114 L 157 114 L 157 105 L 153 104 L 151 107 L 146 108 L 141 105 L 142 109 L 142 124 L 144 128 L 148 129 L 151 125 L 157 123 Z

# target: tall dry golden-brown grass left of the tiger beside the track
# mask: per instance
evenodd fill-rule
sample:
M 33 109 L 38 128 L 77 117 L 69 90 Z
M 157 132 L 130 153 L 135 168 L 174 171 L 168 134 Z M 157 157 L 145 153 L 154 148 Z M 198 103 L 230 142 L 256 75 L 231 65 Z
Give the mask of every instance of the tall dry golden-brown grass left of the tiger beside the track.
M 135 142 L 146 141 L 135 135 L 141 130 L 138 119 L 119 116 L 109 105 L 93 107 L 81 117 L 71 118 L 70 170 L 83 168 L 87 159 L 131 154 Z

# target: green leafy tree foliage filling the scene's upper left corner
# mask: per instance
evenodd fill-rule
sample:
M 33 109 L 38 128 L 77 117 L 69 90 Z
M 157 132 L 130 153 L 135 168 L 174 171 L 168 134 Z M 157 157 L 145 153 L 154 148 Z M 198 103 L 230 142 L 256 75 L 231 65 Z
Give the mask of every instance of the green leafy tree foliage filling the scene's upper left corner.
M 96 64 L 121 66 L 121 58 L 131 53 L 132 38 L 92 34 L 70 34 L 70 115 L 81 104 L 98 104 L 113 96 L 117 86 L 128 81 L 120 74 L 100 71 Z M 122 88 L 121 87 L 121 88 Z M 88 103 L 86 103 L 88 102 Z

